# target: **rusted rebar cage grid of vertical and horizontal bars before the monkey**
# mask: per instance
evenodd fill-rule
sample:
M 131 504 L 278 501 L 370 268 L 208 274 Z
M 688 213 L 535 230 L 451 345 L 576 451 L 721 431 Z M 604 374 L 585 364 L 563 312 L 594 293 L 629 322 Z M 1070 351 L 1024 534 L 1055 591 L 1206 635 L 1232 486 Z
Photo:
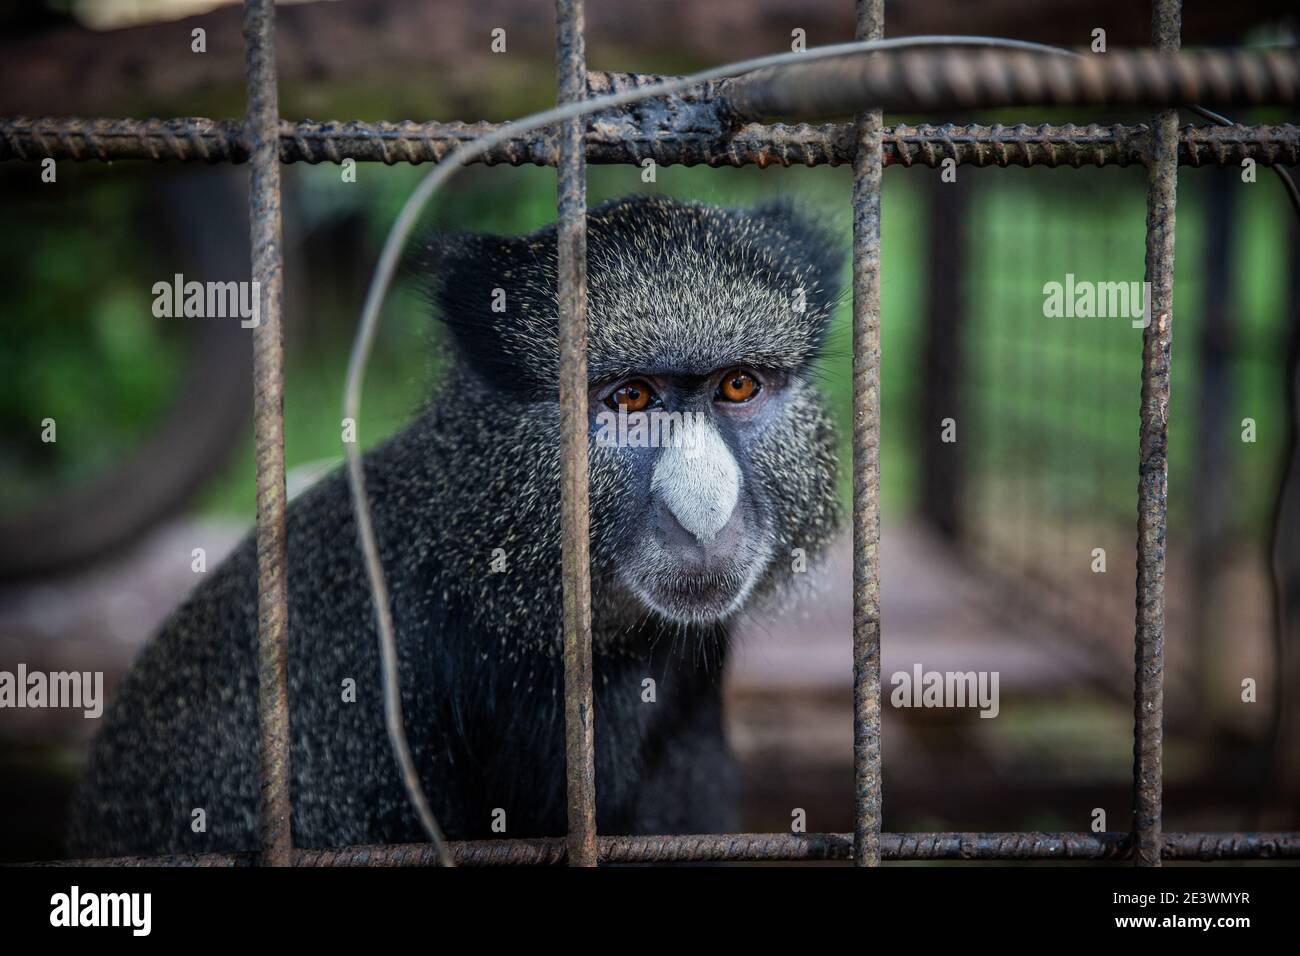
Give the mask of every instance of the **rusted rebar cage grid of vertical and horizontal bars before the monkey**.
M 883 0 L 857 0 L 857 38 L 884 33 Z M 6 120 L 0 121 L 0 159 L 152 159 L 251 164 L 252 278 L 264 294 L 255 332 L 255 431 L 257 458 L 259 709 L 261 724 L 261 852 L 98 861 L 112 865 L 426 865 L 438 862 L 432 844 L 295 849 L 289 797 L 287 598 L 285 585 L 283 349 L 281 337 L 280 164 L 338 163 L 344 157 L 382 163 L 438 163 L 459 144 L 495 129 L 490 124 L 289 124 L 277 107 L 272 0 L 246 0 L 248 114 L 243 124 L 205 120 Z M 556 75 L 560 101 L 647 85 L 634 74 L 589 74 L 581 0 L 556 0 Z M 1154 0 L 1153 47 L 1179 49 L 1180 4 Z M 1086 61 L 1080 61 L 1086 62 Z M 1231 64 L 1230 64 L 1231 65 Z M 962 69 L 979 64 L 967 62 Z M 852 69 L 852 68 L 850 68 Z M 1084 73 L 1091 69 L 1080 66 Z M 1109 66 L 1106 69 L 1110 69 Z M 1096 74 L 1096 70 L 1093 70 Z M 1123 72 L 1121 72 L 1123 74 Z M 815 85 L 792 82 L 789 96 L 764 100 L 755 83 L 714 82 L 663 96 L 654 109 L 612 112 L 599 127 L 586 118 L 562 129 L 520 135 L 490 150 L 485 163 L 555 165 L 559 220 L 559 325 L 563 502 L 563 652 L 568 838 L 451 844 L 458 864 L 559 864 L 670 861 L 849 860 L 1121 860 L 1156 866 L 1162 860 L 1249 860 L 1300 857 L 1300 832 L 1162 832 L 1162 696 L 1165 623 L 1166 433 L 1174 256 L 1174 208 L 1179 164 L 1264 165 L 1300 163 L 1300 126 L 1178 127 L 1176 109 L 1197 85 L 1222 82 L 1247 88 L 1218 70 L 1209 79 L 1180 74 L 1152 92 L 1147 74 L 1114 81 L 1127 92 L 1108 101 L 1164 107 L 1149 126 L 883 126 L 881 109 L 852 125 L 763 125 L 749 118 L 783 112 L 807 100 Z M 1231 72 L 1228 72 L 1231 73 Z M 822 74 L 826 81 L 828 74 Z M 1083 74 L 1080 74 L 1083 75 Z M 1092 75 L 1104 86 L 1109 74 Z M 840 78 L 845 78 L 840 74 Z M 742 78 L 748 79 L 748 78 Z M 1052 83 L 1019 79 L 1041 103 L 1091 101 L 1057 92 Z M 931 103 L 906 74 L 907 96 Z M 1278 81 L 1284 86 L 1286 79 Z M 1295 78 L 1290 101 L 1295 100 Z M 1013 83 L 1014 85 L 1014 83 Z M 1188 88 L 1188 92 L 1179 92 Z M 997 83 L 980 96 L 997 100 Z M 1005 85 L 1004 85 L 1005 86 Z M 1069 86 L 1069 85 L 1066 85 Z M 1079 86 L 1074 87 L 1076 91 Z M 1083 82 L 1083 88 L 1088 81 Z M 993 91 L 993 92 L 991 92 Z M 1032 94 L 1024 94 L 1032 96 Z M 792 99 L 793 98 L 793 99 Z M 1239 96 L 1240 99 L 1240 96 Z M 857 100 L 874 101 L 874 100 Z M 992 105 L 988 103 L 987 105 Z M 585 164 L 818 165 L 853 164 L 853 657 L 854 657 L 854 830 L 852 834 L 727 834 L 620 836 L 595 832 L 592 706 L 590 581 L 586 476 L 586 190 Z M 452 159 L 455 159 L 452 156 Z M 1138 607 L 1134 688 L 1134 801 L 1128 832 L 881 832 L 880 761 L 880 189 L 885 165 L 937 166 L 945 159 L 972 165 L 1145 164 L 1147 263 L 1153 320 L 1144 330 L 1138 494 Z

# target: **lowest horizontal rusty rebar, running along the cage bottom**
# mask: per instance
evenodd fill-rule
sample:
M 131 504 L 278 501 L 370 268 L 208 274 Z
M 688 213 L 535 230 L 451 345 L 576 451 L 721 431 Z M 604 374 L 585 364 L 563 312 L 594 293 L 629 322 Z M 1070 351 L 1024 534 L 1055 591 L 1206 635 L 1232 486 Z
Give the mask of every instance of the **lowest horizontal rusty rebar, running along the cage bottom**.
M 598 836 L 601 862 L 785 862 L 852 860 L 853 834 L 720 834 Z M 564 839 L 477 840 L 450 844 L 458 866 L 540 866 L 566 861 Z M 916 832 L 881 834 L 883 860 L 1123 860 L 1132 834 Z M 1300 858 L 1300 832 L 1165 834 L 1166 860 Z M 116 860 L 57 860 L 40 866 L 250 866 L 255 853 L 204 853 Z M 298 866 L 437 866 L 428 843 L 338 849 L 295 849 Z

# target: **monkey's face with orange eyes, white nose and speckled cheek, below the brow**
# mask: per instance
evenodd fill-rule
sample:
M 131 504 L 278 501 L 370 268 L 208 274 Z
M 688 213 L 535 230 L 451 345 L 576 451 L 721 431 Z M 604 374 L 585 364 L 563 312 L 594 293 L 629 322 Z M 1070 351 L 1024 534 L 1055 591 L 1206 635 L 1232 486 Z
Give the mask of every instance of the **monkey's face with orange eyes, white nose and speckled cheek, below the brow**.
M 598 384 L 589 407 L 598 588 L 670 620 L 719 620 L 796 574 L 789 553 L 820 546 L 833 446 L 796 372 L 638 372 Z

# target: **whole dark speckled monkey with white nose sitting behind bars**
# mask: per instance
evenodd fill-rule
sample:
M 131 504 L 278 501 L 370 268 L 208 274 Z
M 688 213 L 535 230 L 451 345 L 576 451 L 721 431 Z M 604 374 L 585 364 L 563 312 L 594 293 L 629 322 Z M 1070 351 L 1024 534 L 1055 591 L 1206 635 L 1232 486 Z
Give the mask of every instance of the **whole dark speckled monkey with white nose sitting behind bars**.
M 446 836 L 566 832 L 556 229 L 421 241 L 448 367 L 363 467 L 402 708 Z M 814 381 L 837 238 L 790 203 L 634 195 L 588 212 L 597 827 L 728 832 L 722 676 L 737 617 L 792 593 L 840 523 Z M 503 304 L 502 304 L 503 299 Z M 680 415 L 671 441 L 601 441 Z M 644 431 L 644 429 L 642 429 Z M 287 511 L 290 795 L 304 848 L 421 842 L 385 731 L 347 483 Z M 256 545 L 124 678 L 74 788 L 74 857 L 259 845 Z M 351 691 L 348 689 L 351 688 Z

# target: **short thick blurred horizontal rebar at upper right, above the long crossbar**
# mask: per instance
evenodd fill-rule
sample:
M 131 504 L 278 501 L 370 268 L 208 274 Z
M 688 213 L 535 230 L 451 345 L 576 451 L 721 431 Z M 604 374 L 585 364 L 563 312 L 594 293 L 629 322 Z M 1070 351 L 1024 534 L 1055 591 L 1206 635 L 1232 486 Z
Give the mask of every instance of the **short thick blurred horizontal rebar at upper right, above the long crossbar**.
M 1105 56 L 950 47 L 827 56 L 728 81 L 745 120 L 997 107 L 1248 107 L 1300 100 L 1300 56 L 1266 52 L 1113 49 Z

